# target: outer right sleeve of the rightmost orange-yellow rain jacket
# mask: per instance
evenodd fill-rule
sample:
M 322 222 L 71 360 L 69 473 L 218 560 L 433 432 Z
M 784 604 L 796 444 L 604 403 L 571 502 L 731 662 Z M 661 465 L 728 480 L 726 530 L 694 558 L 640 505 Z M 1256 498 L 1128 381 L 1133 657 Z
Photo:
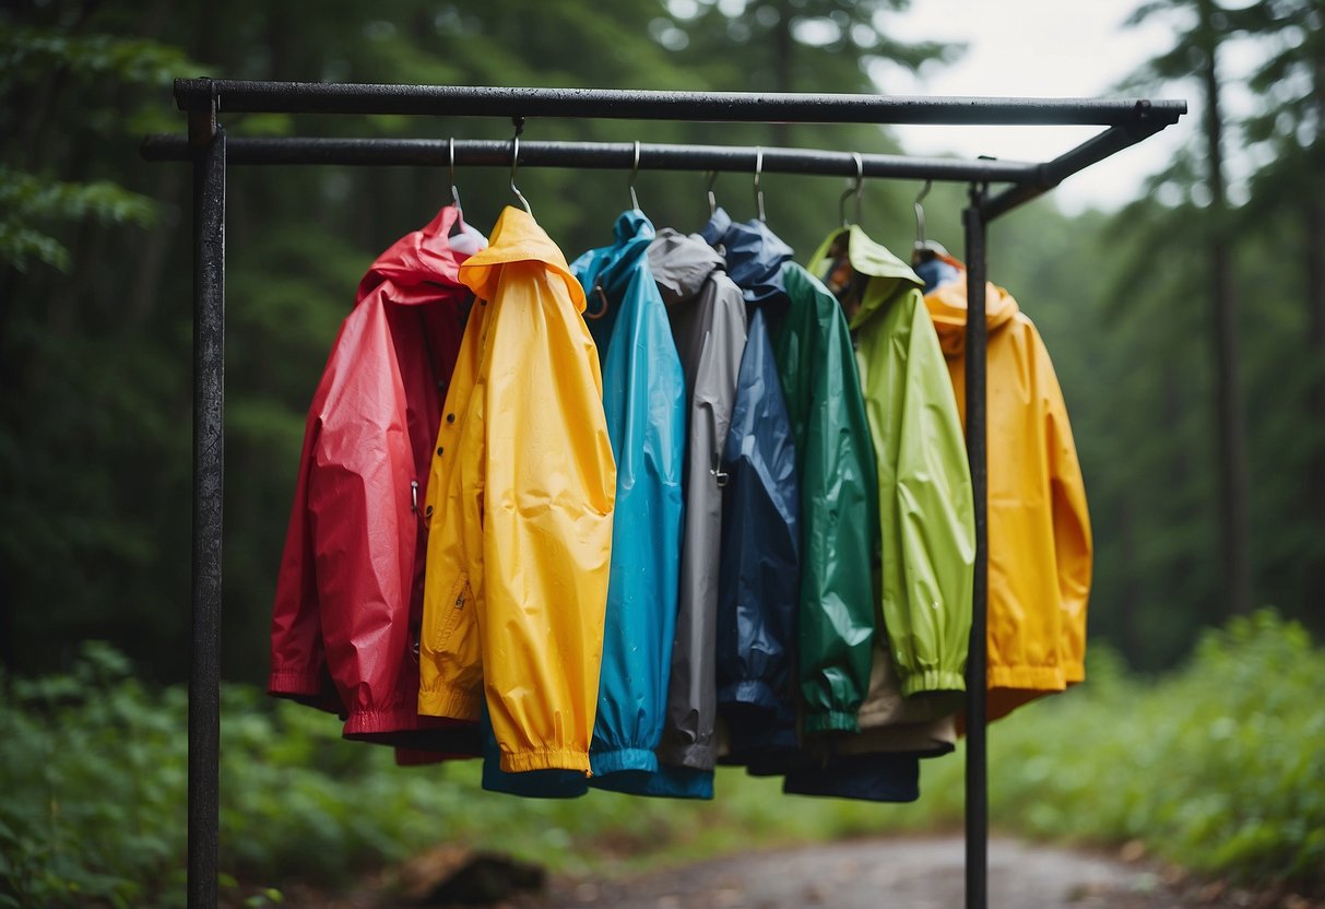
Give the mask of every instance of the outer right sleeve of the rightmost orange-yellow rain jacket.
M 1063 390 L 1039 335 L 1036 341 L 1036 358 L 1041 360 L 1039 372 L 1044 376 L 1041 401 L 1045 409 L 1045 455 L 1053 504 L 1053 554 L 1063 610 L 1059 665 L 1065 681 L 1071 684 L 1085 678 L 1085 615 L 1092 571 L 1090 515 Z

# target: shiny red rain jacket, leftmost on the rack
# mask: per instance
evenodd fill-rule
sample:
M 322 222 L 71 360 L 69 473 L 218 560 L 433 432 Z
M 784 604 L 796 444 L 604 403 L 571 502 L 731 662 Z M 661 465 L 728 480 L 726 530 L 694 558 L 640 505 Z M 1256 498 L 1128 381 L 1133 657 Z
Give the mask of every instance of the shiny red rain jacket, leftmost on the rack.
M 473 727 L 419 717 L 413 648 L 428 466 L 470 299 L 457 273 L 482 245 L 447 207 L 382 253 L 309 408 L 268 686 L 343 714 L 351 738 L 431 751 L 477 745 Z

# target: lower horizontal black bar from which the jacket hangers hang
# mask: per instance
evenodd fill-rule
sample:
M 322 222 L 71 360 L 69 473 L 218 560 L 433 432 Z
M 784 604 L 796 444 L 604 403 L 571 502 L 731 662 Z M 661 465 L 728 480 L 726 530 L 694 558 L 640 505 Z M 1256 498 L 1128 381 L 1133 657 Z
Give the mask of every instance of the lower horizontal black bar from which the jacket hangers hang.
M 321 139 L 321 138 L 229 138 L 231 164 L 415 164 L 445 167 L 447 139 Z M 456 139 L 457 167 L 510 167 L 510 142 Z M 143 140 L 147 160 L 189 160 L 188 142 L 179 135 L 150 135 Z M 754 148 L 743 146 L 681 146 L 640 143 L 641 171 L 739 171 L 753 174 L 763 155 L 767 174 L 822 174 L 855 176 L 851 152 L 814 148 Z M 861 155 L 869 178 L 904 180 L 953 180 L 1018 183 L 1036 179 L 1040 164 L 1007 160 L 961 160 Z M 635 164 L 633 142 L 521 142 L 521 167 L 576 167 L 629 170 Z

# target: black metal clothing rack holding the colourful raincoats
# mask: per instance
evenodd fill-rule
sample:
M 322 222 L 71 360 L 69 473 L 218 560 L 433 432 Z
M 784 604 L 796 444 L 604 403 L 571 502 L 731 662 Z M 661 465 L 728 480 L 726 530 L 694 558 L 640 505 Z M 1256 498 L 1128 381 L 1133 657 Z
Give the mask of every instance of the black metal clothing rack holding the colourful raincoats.
M 1185 101 L 929 98 L 864 94 L 753 94 L 506 89 L 176 80 L 188 135 L 143 140 L 147 160 L 193 164 L 193 526 L 192 651 L 188 696 L 188 906 L 215 909 L 219 860 L 221 489 L 224 481 L 225 174 L 231 164 L 404 164 L 743 171 L 947 180 L 970 184 L 963 212 L 967 266 L 966 440 L 975 500 L 975 583 L 966 668 L 966 906 L 988 904 L 986 747 L 987 473 L 984 235 L 991 220 L 1063 179 L 1175 123 Z M 757 123 L 1085 125 L 1106 127 L 1035 163 L 590 142 L 235 138 L 225 113 L 412 114 L 727 121 Z M 1000 184 L 995 195 L 990 186 Z M 1006 186 L 1004 186 L 1006 184 Z

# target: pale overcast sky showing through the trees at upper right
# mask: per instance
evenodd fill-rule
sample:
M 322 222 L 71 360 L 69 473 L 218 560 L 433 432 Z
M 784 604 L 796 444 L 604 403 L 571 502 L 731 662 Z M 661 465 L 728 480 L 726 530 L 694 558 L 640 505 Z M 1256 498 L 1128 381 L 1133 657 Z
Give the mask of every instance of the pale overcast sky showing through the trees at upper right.
M 881 68 L 877 78 L 888 94 L 1121 97 L 1114 86 L 1173 45 L 1170 27 L 1163 24 L 1122 28 L 1137 5 L 1137 0 L 913 0 L 909 11 L 886 17 L 894 37 L 965 42 L 967 52 L 955 64 L 928 66 L 918 80 L 892 66 Z M 1191 87 L 1181 86 L 1165 97 L 1181 94 L 1190 95 Z M 1178 126 L 1068 178 L 1055 189 L 1059 204 L 1079 211 L 1130 200 L 1141 180 L 1171 158 L 1192 119 L 1189 114 Z M 1098 129 L 896 127 L 912 154 L 1019 160 L 1052 158 Z

